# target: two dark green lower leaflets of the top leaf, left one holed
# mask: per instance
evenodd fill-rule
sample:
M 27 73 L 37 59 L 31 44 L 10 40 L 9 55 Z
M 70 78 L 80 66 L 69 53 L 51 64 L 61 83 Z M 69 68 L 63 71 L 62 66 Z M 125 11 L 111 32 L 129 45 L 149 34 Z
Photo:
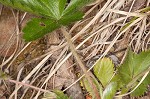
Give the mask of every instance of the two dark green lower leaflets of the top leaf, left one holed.
M 82 13 L 75 13 L 73 15 L 62 18 L 59 21 L 47 18 L 33 18 L 26 24 L 25 28 L 23 29 L 23 38 L 25 39 L 25 41 L 36 40 L 44 36 L 45 34 L 50 33 L 57 28 L 60 28 L 61 25 L 68 25 L 71 22 L 81 19 L 82 16 Z M 71 22 L 68 20 L 71 20 Z

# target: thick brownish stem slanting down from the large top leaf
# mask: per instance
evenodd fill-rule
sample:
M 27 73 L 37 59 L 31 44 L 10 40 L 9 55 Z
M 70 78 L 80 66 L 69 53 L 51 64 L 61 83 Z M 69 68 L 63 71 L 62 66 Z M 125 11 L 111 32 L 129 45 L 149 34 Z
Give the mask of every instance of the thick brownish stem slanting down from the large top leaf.
M 65 39 L 67 40 L 67 43 L 68 43 L 68 45 L 69 45 L 69 47 L 70 47 L 70 50 L 71 50 L 73 56 L 75 57 L 77 63 L 79 64 L 80 68 L 81 68 L 82 71 L 84 72 L 85 77 L 87 78 L 88 82 L 90 83 L 91 87 L 93 88 L 94 93 L 95 93 L 95 95 L 96 95 L 96 99 L 100 99 L 100 95 L 99 95 L 99 93 L 98 93 L 98 90 L 97 90 L 96 86 L 93 84 L 93 81 L 92 81 L 91 77 L 89 76 L 89 74 L 88 74 L 88 72 L 87 72 L 87 70 L 86 70 L 86 68 L 85 68 L 85 66 L 84 66 L 84 64 L 83 64 L 83 62 L 82 62 L 81 59 L 79 58 L 79 55 L 78 55 L 77 52 L 76 52 L 76 48 L 75 48 L 74 44 L 72 43 L 71 37 L 70 37 L 70 35 L 68 34 L 68 32 L 66 31 L 66 28 L 65 28 L 65 27 L 62 27 L 62 28 L 61 28 L 61 31 L 62 31 L 63 35 L 65 36 Z

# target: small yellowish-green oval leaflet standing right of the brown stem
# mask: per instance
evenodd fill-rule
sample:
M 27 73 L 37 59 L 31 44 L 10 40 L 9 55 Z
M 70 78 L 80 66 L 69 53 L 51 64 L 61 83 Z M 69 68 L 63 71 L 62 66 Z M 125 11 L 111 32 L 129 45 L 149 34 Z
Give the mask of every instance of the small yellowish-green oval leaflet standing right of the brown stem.
M 106 85 L 110 82 L 113 72 L 114 64 L 109 58 L 103 58 L 94 66 L 94 74 L 100 80 L 102 85 Z

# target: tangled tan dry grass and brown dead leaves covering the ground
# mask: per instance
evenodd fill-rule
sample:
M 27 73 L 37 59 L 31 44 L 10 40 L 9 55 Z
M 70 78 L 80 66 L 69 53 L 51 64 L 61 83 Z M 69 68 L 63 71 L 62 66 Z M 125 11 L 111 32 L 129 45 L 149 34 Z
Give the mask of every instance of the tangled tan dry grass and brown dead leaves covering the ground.
M 97 0 L 85 7 L 84 18 L 67 27 L 85 67 L 91 70 L 96 60 L 109 55 L 115 55 L 121 64 L 128 48 L 136 53 L 148 50 L 150 10 L 141 11 L 149 6 L 149 0 Z M 76 76 L 80 68 L 61 31 L 56 30 L 42 39 L 25 43 L 21 29 L 35 16 L 4 7 L 0 12 L 3 16 L 0 32 L 5 32 L 0 34 L 5 35 L 0 37 L 0 66 L 16 81 L 1 81 L 1 96 L 40 99 L 43 91 L 57 88 L 65 90 L 74 99 L 84 98 L 85 93 L 78 83 L 82 75 Z

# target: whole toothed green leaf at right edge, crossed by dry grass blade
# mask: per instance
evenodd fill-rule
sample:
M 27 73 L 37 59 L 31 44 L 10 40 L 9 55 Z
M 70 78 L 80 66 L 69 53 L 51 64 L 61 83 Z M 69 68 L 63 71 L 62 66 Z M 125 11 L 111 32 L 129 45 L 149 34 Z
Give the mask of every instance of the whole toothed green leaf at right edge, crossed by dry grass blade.
M 119 67 L 117 78 L 121 92 L 128 92 L 135 88 L 141 79 L 142 74 L 150 67 L 150 51 L 143 51 L 135 54 L 128 51 L 124 63 Z M 117 80 L 116 80 L 117 81 Z M 142 84 L 131 94 L 132 96 L 141 96 L 147 91 L 150 84 L 150 75 L 142 82 Z M 123 92 L 123 90 L 126 90 Z

